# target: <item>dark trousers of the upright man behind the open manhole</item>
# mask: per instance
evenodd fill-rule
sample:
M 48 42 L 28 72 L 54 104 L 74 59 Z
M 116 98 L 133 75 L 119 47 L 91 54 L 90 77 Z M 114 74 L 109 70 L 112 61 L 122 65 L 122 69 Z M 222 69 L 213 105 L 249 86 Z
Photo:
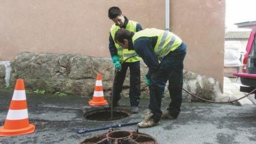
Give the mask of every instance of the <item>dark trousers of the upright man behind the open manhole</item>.
M 117 102 L 121 99 L 120 93 L 122 92 L 122 85 L 128 67 L 130 69 L 130 104 L 132 107 L 137 107 L 140 100 L 139 96 L 141 95 L 141 70 L 139 61 L 122 64 L 122 69 L 120 72 L 117 72 L 114 81 L 113 102 Z

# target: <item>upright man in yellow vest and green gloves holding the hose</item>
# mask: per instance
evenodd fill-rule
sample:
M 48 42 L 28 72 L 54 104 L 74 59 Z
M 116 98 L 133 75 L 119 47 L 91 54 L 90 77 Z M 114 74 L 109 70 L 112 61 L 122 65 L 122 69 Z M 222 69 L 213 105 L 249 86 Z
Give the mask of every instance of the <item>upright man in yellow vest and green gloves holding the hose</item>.
M 132 106 L 132 113 L 138 113 L 138 105 L 141 94 L 140 87 L 140 57 L 132 57 L 125 61 L 122 65 L 121 63 L 128 57 L 135 55 L 134 50 L 123 49 L 119 44 L 114 41 L 115 33 L 117 30 L 124 28 L 128 31 L 137 32 L 142 30 L 139 23 L 132 20 L 128 20 L 126 16 L 122 13 L 119 7 L 110 7 L 108 10 L 108 17 L 115 22 L 110 28 L 109 36 L 109 51 L 113 64 L 115 66 L 116 78 L 113 85 L 113 107 L 119 106 L 119 100 L 121 99 L 122 85 L 126 76 L 126 71 L 129 67 L 130 69 L 130 105 Z

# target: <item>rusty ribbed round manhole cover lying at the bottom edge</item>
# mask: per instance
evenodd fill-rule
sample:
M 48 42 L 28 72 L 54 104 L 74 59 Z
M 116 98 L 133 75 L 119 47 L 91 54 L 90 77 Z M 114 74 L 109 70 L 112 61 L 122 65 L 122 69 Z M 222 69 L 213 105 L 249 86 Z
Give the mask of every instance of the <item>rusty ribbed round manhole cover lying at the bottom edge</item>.
M 157 144 L 154 137 L 135 131 L 113 131 L 85 139 L 81 144 Z

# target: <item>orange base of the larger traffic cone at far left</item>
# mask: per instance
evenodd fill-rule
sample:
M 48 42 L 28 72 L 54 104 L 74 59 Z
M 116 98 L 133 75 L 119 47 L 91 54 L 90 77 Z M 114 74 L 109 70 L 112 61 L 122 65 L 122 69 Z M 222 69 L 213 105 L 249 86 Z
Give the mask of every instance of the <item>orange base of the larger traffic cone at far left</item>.
M 14 135 L 25 135 L 33 133 L 35 131 L 35 126 L 29 124 L 28 127 L 23 129 L 4 129 L 4 126 L 0 127 L 0 137 L 4 136 L 14 136 Z

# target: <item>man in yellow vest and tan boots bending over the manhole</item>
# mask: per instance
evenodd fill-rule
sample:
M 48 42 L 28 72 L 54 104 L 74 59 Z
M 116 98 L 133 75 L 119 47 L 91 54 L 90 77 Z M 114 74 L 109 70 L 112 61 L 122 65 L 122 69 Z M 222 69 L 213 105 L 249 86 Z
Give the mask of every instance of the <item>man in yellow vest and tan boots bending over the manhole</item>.
M 148 66 L 146 79 L 149 82 L 150 103 L 145 119 L 139 127 L 152 127 L 160 118 L 176 119 L 182 103 L 183 61 L 187 46 L 169 31 L 147 28 L 139 32 L 120 29 L 115 33 L 115 41 L 128 50 L 135 52 Z M 160 61 L 160 63 L 159 63 Z M 169 80 L 171 103 L 162 113 L 161 96 Z

